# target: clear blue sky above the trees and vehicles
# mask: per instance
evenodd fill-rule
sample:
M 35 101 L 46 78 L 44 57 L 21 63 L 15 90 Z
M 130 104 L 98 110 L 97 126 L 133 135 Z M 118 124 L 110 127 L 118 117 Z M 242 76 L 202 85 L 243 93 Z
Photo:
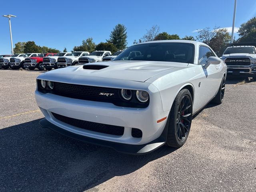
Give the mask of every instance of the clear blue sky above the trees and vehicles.
M 161 32 L 196 36 L 196 29 L 231 27 L 234 0 L 94 0 L 94 1 L 2 1 L 0 14 L 12 18 L 13 45 L 34 41 L 37 45 L 68 51 L 92 37 L 105 42 L 118 23 L 127 28 L 128 46 L 152 25 Z M 239 27 L 256 16 L 256 0 L 237 0 Z M 0 17 L 0 54 L 10 54 L 8 19 Z M 238 37 L 237 34 L 235 34 Z

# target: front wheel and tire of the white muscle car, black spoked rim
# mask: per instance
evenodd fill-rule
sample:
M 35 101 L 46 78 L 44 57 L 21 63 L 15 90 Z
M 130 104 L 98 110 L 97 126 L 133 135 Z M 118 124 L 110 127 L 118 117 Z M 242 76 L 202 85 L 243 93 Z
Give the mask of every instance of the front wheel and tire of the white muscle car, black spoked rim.
M 184 145 L 192 121 L 192 96 L 187 89 L 181 90 L 170 110 L 166 145 L 179 148 Z

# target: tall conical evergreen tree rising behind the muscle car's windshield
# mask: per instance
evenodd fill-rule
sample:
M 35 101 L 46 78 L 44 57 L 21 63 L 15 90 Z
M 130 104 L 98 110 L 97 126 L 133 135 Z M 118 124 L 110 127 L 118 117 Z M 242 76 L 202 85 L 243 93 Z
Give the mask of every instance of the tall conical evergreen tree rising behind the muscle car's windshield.
M 114 44 L 118 50 L 124 50 L 127 45 L 126 27 L 122 24 L 117 24 L 110 33 L 110 39 L 107 42 Z

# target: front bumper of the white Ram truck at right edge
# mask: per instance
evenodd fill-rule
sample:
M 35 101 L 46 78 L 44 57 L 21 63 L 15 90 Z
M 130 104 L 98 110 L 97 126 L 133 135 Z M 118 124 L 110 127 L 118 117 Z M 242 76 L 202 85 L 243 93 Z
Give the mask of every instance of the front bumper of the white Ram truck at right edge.
M 228 75 L 255 76 L 256 65 L 251 66 L 228 66 Z

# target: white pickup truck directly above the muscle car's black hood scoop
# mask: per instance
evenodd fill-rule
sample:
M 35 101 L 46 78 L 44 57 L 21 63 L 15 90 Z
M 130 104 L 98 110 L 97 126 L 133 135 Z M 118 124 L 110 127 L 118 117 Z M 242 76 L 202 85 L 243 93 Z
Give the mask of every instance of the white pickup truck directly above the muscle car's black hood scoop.
M 102 61 L 102 59 L 107 56 L 112 56 L 110 51 L 94 51 L 89 56 L 79 58 L 78 64 L 83 65 L 86 63 Z

